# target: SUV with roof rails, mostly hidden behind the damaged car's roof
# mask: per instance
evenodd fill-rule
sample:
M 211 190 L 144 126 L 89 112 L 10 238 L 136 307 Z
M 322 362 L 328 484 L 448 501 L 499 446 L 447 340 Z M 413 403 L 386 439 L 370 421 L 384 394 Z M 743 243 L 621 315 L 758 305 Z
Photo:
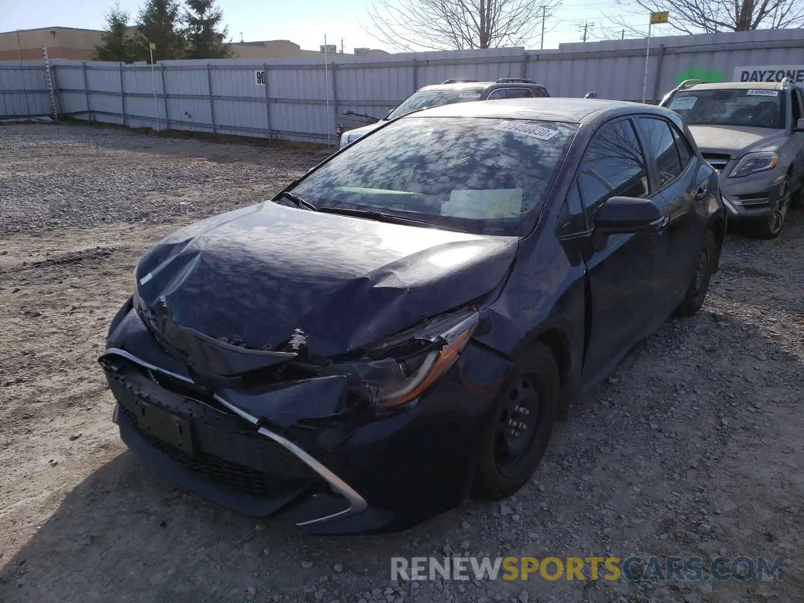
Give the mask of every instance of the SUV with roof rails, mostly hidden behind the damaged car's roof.
M 379 128 L 387 121 L 400 117 L 405 113 L 440 107 L 453 103 L 465 103 L 472 100 L 496 100 L 502 98 L 540 98 L 550 96 L 544 84 L 536 84 L 533 80 L 521 77 L 502 77 L 495 82 L 478 82 L 478 80 L 445 80 L 441 84 L 433 84 L 419 88 L 393 109 L 386 117 L 375 124 L 351 129 L 341 136 L 340 147 L 343 149 L 359 137 Z

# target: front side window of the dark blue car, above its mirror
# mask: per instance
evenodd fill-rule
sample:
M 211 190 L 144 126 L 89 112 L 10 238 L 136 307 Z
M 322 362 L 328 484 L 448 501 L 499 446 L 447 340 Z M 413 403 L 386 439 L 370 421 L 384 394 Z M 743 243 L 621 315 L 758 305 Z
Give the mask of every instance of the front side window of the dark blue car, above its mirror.
M 609 197 L 649 195 L 645 155 L 630 120 L 597 131 L 580 162 L 577 183 L 590 218 Z

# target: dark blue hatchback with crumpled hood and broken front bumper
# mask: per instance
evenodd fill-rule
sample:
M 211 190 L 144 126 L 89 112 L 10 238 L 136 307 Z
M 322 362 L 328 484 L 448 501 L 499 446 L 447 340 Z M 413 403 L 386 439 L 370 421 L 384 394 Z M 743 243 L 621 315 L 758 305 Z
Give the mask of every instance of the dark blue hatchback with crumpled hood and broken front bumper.
M 572 400 L 699 310 L 725 225 L 665 109 L 412 113 L 145 253 L 100 358 L 115 420 L 178 486 L 313 533 L 505 498 Z

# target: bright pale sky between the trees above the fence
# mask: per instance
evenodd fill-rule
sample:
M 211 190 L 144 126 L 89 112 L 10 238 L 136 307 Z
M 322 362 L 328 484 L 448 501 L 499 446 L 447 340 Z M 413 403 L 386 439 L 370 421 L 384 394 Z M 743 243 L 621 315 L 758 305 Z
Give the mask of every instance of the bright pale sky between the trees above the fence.
M 35 27 L 83 27 L 102 29 L 103 15 L 114 0 L 0 0 L 0 31 Z M 143 0 L 120 0 L 121 7 L 133 18 Z M 367 6 L 370 0 L 218 0 L 224 21 L 234 41 L 289 39 L 307 50 L 318 50 L 327 36 L 328 43 L 343 38 L 347 52 L 355 47 L 385 48 L 364 27 L 370 22 Z M 557 48 L 559 43 L 580 42 L 584 23 L 589 23 L 588 40 L 619 37 L 619 29 L 609 17 L 625 18 L 629 23 L 646 23 L 647 15 L 634 14 L 629 6 L 618 6 L 616 0 L 564 0 L 548 17 L 548 34 L 544 47 Z M 672 35 L 666 31 L 655 34 Z M 635 37 L 633 34 L 627 37 Z M 530 47 L 538 47 L 538 40 Z

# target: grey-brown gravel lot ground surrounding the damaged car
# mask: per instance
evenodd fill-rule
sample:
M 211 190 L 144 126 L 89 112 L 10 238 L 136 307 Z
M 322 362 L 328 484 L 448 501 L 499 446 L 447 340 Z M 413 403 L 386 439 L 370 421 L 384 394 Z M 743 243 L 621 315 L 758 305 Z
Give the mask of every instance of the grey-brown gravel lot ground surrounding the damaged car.
M 326 539 L 145 470 L 117 437 L 95 363 L 137 257 L 319 159 L 0 127 L 0 601 L 804 601 L 802 211 L 777 240 L 730 235 L 704 310 L 667 322 L 580 400 L 502 505 Z M 766 582 L 388 581 L 391 556 L 461 551 L 786 564 Z

